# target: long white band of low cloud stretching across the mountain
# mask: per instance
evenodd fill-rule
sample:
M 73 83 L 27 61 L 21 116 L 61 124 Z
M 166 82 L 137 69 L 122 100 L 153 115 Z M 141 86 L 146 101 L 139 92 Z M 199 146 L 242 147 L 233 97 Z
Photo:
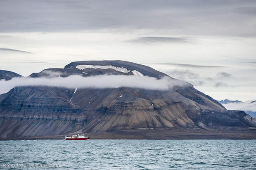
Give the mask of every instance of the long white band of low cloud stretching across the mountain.
M 59 75 L 52 72 L 52 75 Z M 0 94 L 8 92 L 15 86 L 51 86 L 65 88 L 117 88 L 132 87 L 149 90 L 168 90 L 174 86 L 189 86 L 181 80 L 163 77 L 162 79 L 149 76 L 121 76 L 121 75 L 101 75 L 93 77 L 68 76 L 66 78 L 12 78 L 12 80 L 0 80 Z

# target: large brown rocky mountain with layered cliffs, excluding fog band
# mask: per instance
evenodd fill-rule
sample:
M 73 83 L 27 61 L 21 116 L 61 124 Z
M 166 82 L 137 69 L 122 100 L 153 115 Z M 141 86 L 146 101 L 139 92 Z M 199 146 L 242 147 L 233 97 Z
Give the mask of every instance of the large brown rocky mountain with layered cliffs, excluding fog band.
M 78 61 L 30 77 L 101 74 L 167 76 L 128 61 Z M 243 111 L 228 111 L 192 85 L 172 90 L 117 87 L 66 89 L 14 87 L 0 95 L 0 137 L 59 135 L 77 130 L 256 127 Z

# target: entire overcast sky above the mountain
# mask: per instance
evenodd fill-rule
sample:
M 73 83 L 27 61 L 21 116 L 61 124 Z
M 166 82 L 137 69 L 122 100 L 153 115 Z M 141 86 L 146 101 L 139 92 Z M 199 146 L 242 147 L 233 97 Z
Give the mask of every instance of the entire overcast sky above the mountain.
M 0 0 L 0 69 L 119 59 L 214 99 L 256 99 L 255 0 Z

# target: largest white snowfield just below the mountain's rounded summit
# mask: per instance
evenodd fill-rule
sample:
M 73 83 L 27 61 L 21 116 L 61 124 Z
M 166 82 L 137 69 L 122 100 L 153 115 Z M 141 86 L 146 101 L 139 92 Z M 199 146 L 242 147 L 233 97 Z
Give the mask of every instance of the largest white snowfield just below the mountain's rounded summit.
M 94 68 L 94 69 L 101 68 L 101 69 L 108 69 L 108 68 L 111 68 L 111 69 L 114 69 L 114 70 L 119 71 L 119 72 L 122 72 L 122 73 L 129 73 L 129 72 L 130 72 L 130 70 L 128 70 L 127 68 L 116 67 L 116 66 L 78 65 L 78 66 L 76 66 L 76 68 L 78 68 L 78 69 L 85 69 L 85 68 Z M 143 76 L 143 74 L 140 73 L 140 72 L 137 71 L 137 70 L 133 70 L 133 71 L 131 71 L 131 72 L 132 72 L 133 75 L 135 75 L 135 76 Z

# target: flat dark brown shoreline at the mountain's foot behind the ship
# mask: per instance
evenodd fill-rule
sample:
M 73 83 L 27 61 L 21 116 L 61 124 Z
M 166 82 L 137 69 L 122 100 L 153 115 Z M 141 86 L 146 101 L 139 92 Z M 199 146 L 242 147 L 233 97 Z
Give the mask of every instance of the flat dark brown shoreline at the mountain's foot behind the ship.
M 66 134 L 68 135 L 68 134 Z M 237 129 L 168 129 L 168 130 L 122 130 L 88 133 L 90 139 L 256 139 L 256 128 Z M 64 135 L 36 137 L 8 137 L 0 140 L 47 140 L 64 139 Z

